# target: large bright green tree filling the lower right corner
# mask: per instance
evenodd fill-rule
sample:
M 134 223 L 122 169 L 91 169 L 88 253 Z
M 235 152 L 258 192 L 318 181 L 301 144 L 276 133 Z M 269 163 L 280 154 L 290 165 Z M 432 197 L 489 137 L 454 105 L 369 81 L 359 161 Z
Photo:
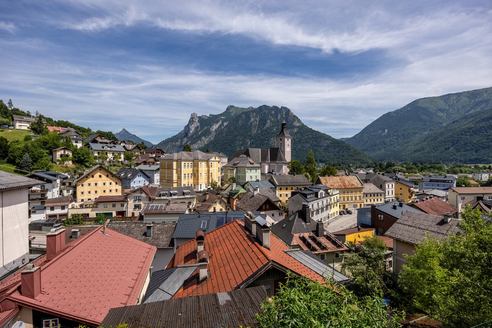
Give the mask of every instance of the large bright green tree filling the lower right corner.
M 492 225 L 482 215 L 466 206 L 461 233 L 440 241 L 426 238 L 400 272 L 398 282 L 410 304 L 445 327 L 492 320 Z

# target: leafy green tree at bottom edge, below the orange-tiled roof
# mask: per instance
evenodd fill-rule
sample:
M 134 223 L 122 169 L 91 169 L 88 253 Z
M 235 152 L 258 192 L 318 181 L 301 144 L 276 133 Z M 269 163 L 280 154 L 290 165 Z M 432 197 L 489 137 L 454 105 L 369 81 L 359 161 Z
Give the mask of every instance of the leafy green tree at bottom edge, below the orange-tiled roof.
M 258 328 L 401 327 L 403 313 L 388 310 L 379 295 L 358 298 L 342 285 L 312 281 L 287 272 L 277 294 L 260 304 Z M 336 290 L 333 286 L 336 285 Z

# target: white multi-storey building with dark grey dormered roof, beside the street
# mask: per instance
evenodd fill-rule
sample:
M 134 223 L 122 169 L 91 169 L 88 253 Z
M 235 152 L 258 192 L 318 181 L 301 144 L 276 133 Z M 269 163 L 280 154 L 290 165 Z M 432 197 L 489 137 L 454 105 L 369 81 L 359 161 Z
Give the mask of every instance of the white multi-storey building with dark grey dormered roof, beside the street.
M 339 213 L 339 190 L 315 184 L 291 192 L 289 213 L 292 214 L 307 205 L 310 216 L 316 222 L 328 222 Z

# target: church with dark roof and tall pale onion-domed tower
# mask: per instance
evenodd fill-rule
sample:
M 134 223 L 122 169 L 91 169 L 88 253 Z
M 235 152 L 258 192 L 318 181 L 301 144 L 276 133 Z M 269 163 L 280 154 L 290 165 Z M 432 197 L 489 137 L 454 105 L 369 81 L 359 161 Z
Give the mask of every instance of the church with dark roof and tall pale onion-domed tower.
M 276 148 L 248 148 L 236 151 L 232 158 L 246 155 L 261 165 L 261 173 L 288 174 L 287 163 L 291 160 L 292 137 L 287 131 L 285 117 L 280 133 L 277 135 Z M 231 159 L 232 160 L 232 159 Z

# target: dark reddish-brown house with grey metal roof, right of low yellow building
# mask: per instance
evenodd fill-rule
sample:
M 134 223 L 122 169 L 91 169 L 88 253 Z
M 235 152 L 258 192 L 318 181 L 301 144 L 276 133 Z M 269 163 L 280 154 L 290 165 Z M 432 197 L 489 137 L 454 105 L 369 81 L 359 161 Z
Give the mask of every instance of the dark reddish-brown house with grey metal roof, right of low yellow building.
M 370 209 L 370 226 L 375 229 L 377 235 L 384 235 L 407 210 L 420 212 L 419 209 L 414 209 L 400 201 L 372 204 Z

